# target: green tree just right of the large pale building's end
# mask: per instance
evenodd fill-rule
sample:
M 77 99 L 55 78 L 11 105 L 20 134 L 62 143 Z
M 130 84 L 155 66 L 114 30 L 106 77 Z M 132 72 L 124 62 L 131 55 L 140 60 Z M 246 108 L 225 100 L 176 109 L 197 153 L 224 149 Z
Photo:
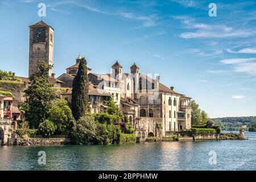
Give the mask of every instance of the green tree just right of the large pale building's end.
M 208 114 L 199 108 L 196 101 L 191 101 L 191 123 L 192 125 L 205 125 L 209 120 Z

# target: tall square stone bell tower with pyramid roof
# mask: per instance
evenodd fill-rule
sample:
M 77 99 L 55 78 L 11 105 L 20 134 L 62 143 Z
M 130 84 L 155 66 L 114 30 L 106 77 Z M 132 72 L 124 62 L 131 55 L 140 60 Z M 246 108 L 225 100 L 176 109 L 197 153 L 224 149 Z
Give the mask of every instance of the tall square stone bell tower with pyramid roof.
M 43 20 L 30 26 L 28 76 L 37 71 L 36 62 L 38 60 L 53 65 L 53 36 L 54 29 Z M 52 69 L 49 70 L 49 76 L 52 73 Z

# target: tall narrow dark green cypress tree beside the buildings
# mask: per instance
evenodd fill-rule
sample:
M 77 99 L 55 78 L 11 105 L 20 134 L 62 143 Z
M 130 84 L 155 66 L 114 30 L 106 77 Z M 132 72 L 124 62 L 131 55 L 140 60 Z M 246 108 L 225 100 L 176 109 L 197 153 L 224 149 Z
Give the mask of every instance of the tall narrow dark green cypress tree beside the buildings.
M 77 75 L 73 80 L 72 85 L 72 113 L 76 121 L 84 116 L 86 113 L 89 113 L 89 104 L 88 104 L 88 75 L 86 60 L 82 57 L 79 70 Z

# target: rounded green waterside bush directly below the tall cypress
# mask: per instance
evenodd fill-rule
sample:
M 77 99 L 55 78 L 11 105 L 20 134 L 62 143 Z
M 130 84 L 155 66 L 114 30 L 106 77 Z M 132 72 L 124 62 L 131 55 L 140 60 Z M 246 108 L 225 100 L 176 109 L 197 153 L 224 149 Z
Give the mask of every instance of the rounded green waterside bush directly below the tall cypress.
M 72 136 L 77 143 L 93 142 L 96 138 L 96 122 L 90 115 L 84 115 L 75 123 L 72 128 Z

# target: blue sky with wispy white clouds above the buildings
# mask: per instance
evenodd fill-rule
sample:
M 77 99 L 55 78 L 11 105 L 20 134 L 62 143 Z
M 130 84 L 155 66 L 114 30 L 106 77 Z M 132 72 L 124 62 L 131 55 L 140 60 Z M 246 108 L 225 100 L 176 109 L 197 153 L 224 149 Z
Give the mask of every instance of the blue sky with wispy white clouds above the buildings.
M 0 69 L 28 75 L 29 27 L 55 29 L 56 76 L 86 58 L 94 73 L 118 60 L 195 100 L 209 117 L 256 115 L 256 2 L 0 0 Z M 216 3 L 217 16 L 209 16 Z

